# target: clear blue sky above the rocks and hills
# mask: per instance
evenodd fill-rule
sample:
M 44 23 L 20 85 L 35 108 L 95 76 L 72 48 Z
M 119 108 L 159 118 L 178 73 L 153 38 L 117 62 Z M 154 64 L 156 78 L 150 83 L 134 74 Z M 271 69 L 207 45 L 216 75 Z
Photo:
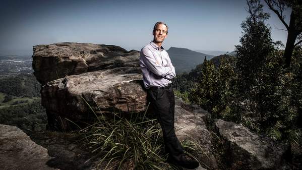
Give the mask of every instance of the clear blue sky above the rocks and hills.
M 246 19 L 245 0 L 205 1 L 1 1 L 0 55 L 32 54 L 32 46 L 55 42 L 119 45 L 140 50 L 157 21 L 169 26 L 163 46 L 232 51 Z M 265 5 L 265 11 L 269 11 Z M 287 12 L 287 16 L 289 13 Z M 286 21 L 288 23 L 288 17 Z M 275 14 L 267 22 L 274 41 L 287 32 Z

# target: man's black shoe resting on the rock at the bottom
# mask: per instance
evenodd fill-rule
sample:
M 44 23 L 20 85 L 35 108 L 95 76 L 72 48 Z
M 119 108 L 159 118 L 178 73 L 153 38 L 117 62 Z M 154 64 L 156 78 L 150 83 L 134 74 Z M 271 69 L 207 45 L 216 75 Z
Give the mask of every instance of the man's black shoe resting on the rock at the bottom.
M 187 156 L 186 154 L 182 154 L 182 155 L 179 155 L 177 156 L 178 160 L 173 158 L 172 156 L 168 156 L 168 159 L 167 159 L 167 162 L 174 162 L 176 163 L 177 165 L 180 165 L 180 166 L 183 166 L 187 169 L 195 169 L 199 166 L 199 163 L 198 161 L 190 158 L 189 156 Z

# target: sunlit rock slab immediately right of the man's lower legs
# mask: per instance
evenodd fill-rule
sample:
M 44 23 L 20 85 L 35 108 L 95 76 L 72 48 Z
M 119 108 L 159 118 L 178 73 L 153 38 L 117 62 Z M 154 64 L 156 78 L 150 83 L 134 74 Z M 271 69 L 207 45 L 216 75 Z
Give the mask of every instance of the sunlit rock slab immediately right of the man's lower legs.
M 208 131 L 205 121 L 209 113 L 197 105 L 184 103 L 175 97 L 175 134 L 182 141 L 188 140 L 198 143 L 202 148 L 199 159 L 202 166 L 217 169 L 216 159 L 211 151 L 212 133 Z M 200 166 L 201 167 L 201 166 Z

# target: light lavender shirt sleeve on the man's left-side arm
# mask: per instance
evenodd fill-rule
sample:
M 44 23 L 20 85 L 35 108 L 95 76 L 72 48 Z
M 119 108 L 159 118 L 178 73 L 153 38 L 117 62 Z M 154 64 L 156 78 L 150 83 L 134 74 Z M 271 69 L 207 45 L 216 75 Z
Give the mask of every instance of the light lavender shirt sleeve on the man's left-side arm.
M 171 73 L 171 68 L 168 66 L 164 67 L 158 61 L 156 61 L 152 51 L 148 48 L 143 48 L 141 50 L 141 59 L 145 66 L 157 76 L 165 77 Z

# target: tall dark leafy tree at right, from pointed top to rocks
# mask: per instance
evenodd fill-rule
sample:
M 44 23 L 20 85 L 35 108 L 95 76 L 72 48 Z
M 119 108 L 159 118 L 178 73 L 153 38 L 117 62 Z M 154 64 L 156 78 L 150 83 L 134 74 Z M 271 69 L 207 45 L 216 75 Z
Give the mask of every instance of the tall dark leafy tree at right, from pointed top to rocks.
M 282 138 L 297 118 L 297 104 L 291 99 L 297 88 L 295 72 L 281 67 L 282 43 L 272 41 L 270 27 L 265 24 L 269 14 L 263 12 L 263 5 L 258 0 L 247 4 L 249 16 L 241 24 L 243 35 L 235 46 L 238 82 L 229 118 L 255 131 L 278 131 L 277 138 Z

